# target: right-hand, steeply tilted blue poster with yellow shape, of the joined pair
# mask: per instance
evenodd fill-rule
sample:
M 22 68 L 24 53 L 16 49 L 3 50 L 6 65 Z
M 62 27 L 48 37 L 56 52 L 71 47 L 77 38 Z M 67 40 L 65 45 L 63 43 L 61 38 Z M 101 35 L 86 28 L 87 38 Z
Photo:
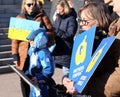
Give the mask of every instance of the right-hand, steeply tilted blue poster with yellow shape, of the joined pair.
M 103 39 L 94 52 L 93 56 L 90 58 L 89 63 L 84 64 L 84 71 L 81 72 L 79 79 L 75 82 L 75 88 L 78 92 L 81 93 L 83 91 L 90 77 L 94 73 L 95 69 L 101 62 L 102 58 L 105 56 L 106 52 L 108 51 L 114 40 L 115 36 Z

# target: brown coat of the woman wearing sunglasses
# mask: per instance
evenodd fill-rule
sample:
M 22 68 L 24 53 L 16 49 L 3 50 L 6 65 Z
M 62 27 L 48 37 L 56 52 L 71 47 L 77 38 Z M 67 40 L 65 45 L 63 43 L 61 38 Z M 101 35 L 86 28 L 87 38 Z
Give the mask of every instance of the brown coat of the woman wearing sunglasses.
M 40 27 L 45 26 L 46 28 L 46 33 L 49 37 L 48 40 L 48 46 L 51 46 L 54 42 L 54 37 L 55 37 L 55 32 L 54 28 L 48 18 L 48 16 L 45 14 L 43 10 L 40 12 L 35 12 L 31 16 L 29 16 L 27 13 L 22 13 L 17 15 L 17 18 L 23 18 L 23 19 L 31 19 L 41 22 Z M 13 60 L 20 60 L 20 66 L 17 66 L 19 70 L 25 70 L 24 65 L 29 64 L 29 61 L 27 60 L 28 55 L 27 51 L 29 48 L 29 43 L 26 41 L 21 41 L 21 40 L 12 40 L 12 55 L 13 55 Z

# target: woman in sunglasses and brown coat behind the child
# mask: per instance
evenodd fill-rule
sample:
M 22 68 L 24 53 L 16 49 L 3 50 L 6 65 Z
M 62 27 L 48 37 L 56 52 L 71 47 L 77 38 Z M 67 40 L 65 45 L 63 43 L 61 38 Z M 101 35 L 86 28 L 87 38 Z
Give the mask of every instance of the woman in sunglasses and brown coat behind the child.
M 16 18 L 22 18 L 27 20 L 33 20 L 40 22 L 40 27 L 45 27 L 48 39 L 48 46 L 51 46 L 54 42 L 54 28 L 45 14 L 43 8 L 41 9 L 37 5 L 37 0 L 23 0 L 21 6 L 21 13 L 16 16 Z M 13 63 L 16 65 L 16 68 L 25 72 L 29 67 L 29 56 L 27 54 L 29 48 L 29 42 L 22 40 L 12 39 L 12 56 Z M 29 86 L 26 82 L 20 78 L 21 89 L 23 97 L 29 97 Z

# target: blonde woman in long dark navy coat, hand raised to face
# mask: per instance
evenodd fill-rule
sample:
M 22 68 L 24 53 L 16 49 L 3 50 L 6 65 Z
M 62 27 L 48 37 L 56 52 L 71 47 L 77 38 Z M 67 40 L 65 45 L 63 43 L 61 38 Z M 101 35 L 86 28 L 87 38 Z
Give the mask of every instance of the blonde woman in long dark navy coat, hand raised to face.
M 55 64 L 63 66 L 63 73 L 67 75 L 70 66 L 73 37 L 78 26 L 76 21 L 77 16 L 76 12 L 68 5 L 67 0 L 59 0 L 56 9 L 59 12 L 53 23 L 56 30 L 56 47 L 52 54 Z

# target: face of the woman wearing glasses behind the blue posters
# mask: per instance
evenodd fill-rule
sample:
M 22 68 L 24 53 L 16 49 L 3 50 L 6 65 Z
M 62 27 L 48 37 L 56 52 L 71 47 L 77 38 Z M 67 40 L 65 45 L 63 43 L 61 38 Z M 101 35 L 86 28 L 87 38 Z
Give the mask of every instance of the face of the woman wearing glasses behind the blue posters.
M 88 17 L 88 13 L 86 10 L 81 12 L 80 15 L 80 27 L 82 31 L 86 31 L 89 28 L 91 28 L 93 25 L 97 26 L 96 20 L 94 18 L 92 18 L 92 16 L 89 15 Z

